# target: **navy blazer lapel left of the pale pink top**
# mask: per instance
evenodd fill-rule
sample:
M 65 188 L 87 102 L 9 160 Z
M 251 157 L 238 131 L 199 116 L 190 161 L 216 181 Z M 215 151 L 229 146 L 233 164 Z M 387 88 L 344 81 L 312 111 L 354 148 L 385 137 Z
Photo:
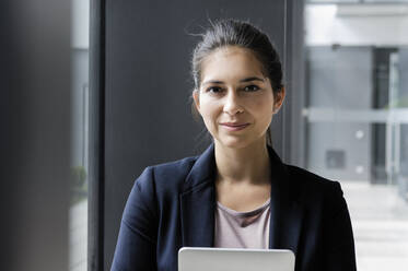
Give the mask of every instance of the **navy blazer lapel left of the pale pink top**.
M 184 247 L 213 247 L 215 160 L 211 144 L 196 161 L 179 195 Z

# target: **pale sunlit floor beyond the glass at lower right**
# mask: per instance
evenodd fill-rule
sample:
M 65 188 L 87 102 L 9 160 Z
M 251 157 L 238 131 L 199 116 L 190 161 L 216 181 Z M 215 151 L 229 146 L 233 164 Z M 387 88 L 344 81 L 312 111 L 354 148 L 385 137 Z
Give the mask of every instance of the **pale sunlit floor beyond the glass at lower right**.
M 394 186 L 341 182 L 354 231 L 359 271 L 408 267 L 408 202 Z

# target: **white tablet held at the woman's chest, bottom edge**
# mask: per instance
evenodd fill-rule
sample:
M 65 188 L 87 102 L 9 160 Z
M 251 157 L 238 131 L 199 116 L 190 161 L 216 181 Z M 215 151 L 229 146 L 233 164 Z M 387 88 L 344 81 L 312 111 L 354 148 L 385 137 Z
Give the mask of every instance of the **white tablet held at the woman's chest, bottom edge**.
M 287 249 L 197 248 L 178 250 L 178 271 L 294 271 Z

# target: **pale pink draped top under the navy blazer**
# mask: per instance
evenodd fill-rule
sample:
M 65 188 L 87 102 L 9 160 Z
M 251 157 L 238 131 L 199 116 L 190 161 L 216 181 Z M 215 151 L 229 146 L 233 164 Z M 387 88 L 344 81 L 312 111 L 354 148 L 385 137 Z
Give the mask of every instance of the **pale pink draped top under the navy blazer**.
M 270 199 L 253 211 L 236 212 L 217 202 L 214 247 L 268 248 L 269 203 Z

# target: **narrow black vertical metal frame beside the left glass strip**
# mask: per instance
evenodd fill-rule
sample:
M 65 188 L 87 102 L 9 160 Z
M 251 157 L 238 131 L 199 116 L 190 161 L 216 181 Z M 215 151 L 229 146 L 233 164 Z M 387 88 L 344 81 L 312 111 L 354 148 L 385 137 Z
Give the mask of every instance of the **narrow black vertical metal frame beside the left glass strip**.
M 88 270 L 104 269 L 105 0 L 90 9 L 90 172 Z

